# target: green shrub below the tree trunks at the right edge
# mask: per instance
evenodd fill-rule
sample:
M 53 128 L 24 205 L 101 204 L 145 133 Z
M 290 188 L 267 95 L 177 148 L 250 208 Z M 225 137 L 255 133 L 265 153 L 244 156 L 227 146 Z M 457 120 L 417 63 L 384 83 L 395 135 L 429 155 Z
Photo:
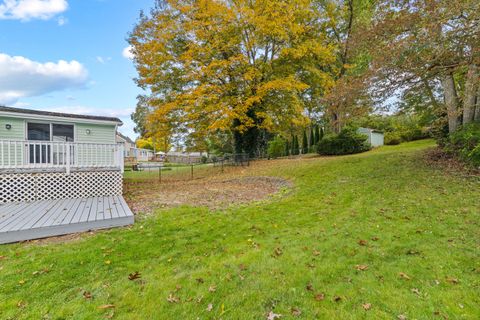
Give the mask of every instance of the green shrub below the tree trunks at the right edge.
M 465 162 L 480 166 L 480 123 L 462 126 L 451 133 L 444 149 Z

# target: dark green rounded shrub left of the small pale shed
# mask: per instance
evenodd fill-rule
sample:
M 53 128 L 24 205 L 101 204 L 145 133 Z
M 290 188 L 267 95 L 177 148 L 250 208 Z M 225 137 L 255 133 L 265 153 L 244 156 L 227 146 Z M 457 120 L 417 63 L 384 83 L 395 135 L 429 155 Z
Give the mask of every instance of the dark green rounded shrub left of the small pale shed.
M 317 152 L 321 155 L 344 155 L 368 150 L 370 144 L 367 137 L 352 128 L 346 128 L 339 134 L 326 135 L 317 145 Z

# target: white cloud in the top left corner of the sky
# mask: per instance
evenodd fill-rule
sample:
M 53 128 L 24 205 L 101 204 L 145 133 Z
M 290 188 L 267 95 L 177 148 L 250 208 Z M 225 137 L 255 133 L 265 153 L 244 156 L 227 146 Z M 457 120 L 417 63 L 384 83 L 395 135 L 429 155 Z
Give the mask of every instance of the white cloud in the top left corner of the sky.
M 3 0 L 0 3 L 0 19 L 48 20 L 67 9 L 67 0 Z

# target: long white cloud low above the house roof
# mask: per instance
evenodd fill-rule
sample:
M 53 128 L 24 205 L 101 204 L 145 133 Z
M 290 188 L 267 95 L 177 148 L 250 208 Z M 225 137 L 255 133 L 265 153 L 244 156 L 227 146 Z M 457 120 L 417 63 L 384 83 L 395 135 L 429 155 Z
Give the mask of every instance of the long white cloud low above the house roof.
M 0 53 L 0 104 L 86 85 L 88 72 L 78 61 L 40 63 Z

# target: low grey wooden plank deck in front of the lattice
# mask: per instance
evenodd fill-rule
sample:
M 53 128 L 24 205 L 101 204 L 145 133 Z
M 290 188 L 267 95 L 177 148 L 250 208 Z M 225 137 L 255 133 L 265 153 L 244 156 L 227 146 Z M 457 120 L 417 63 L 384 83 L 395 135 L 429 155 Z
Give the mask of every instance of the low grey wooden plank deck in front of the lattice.
M 0 205 L 0 244 L 133 224 L 122 196 Z

